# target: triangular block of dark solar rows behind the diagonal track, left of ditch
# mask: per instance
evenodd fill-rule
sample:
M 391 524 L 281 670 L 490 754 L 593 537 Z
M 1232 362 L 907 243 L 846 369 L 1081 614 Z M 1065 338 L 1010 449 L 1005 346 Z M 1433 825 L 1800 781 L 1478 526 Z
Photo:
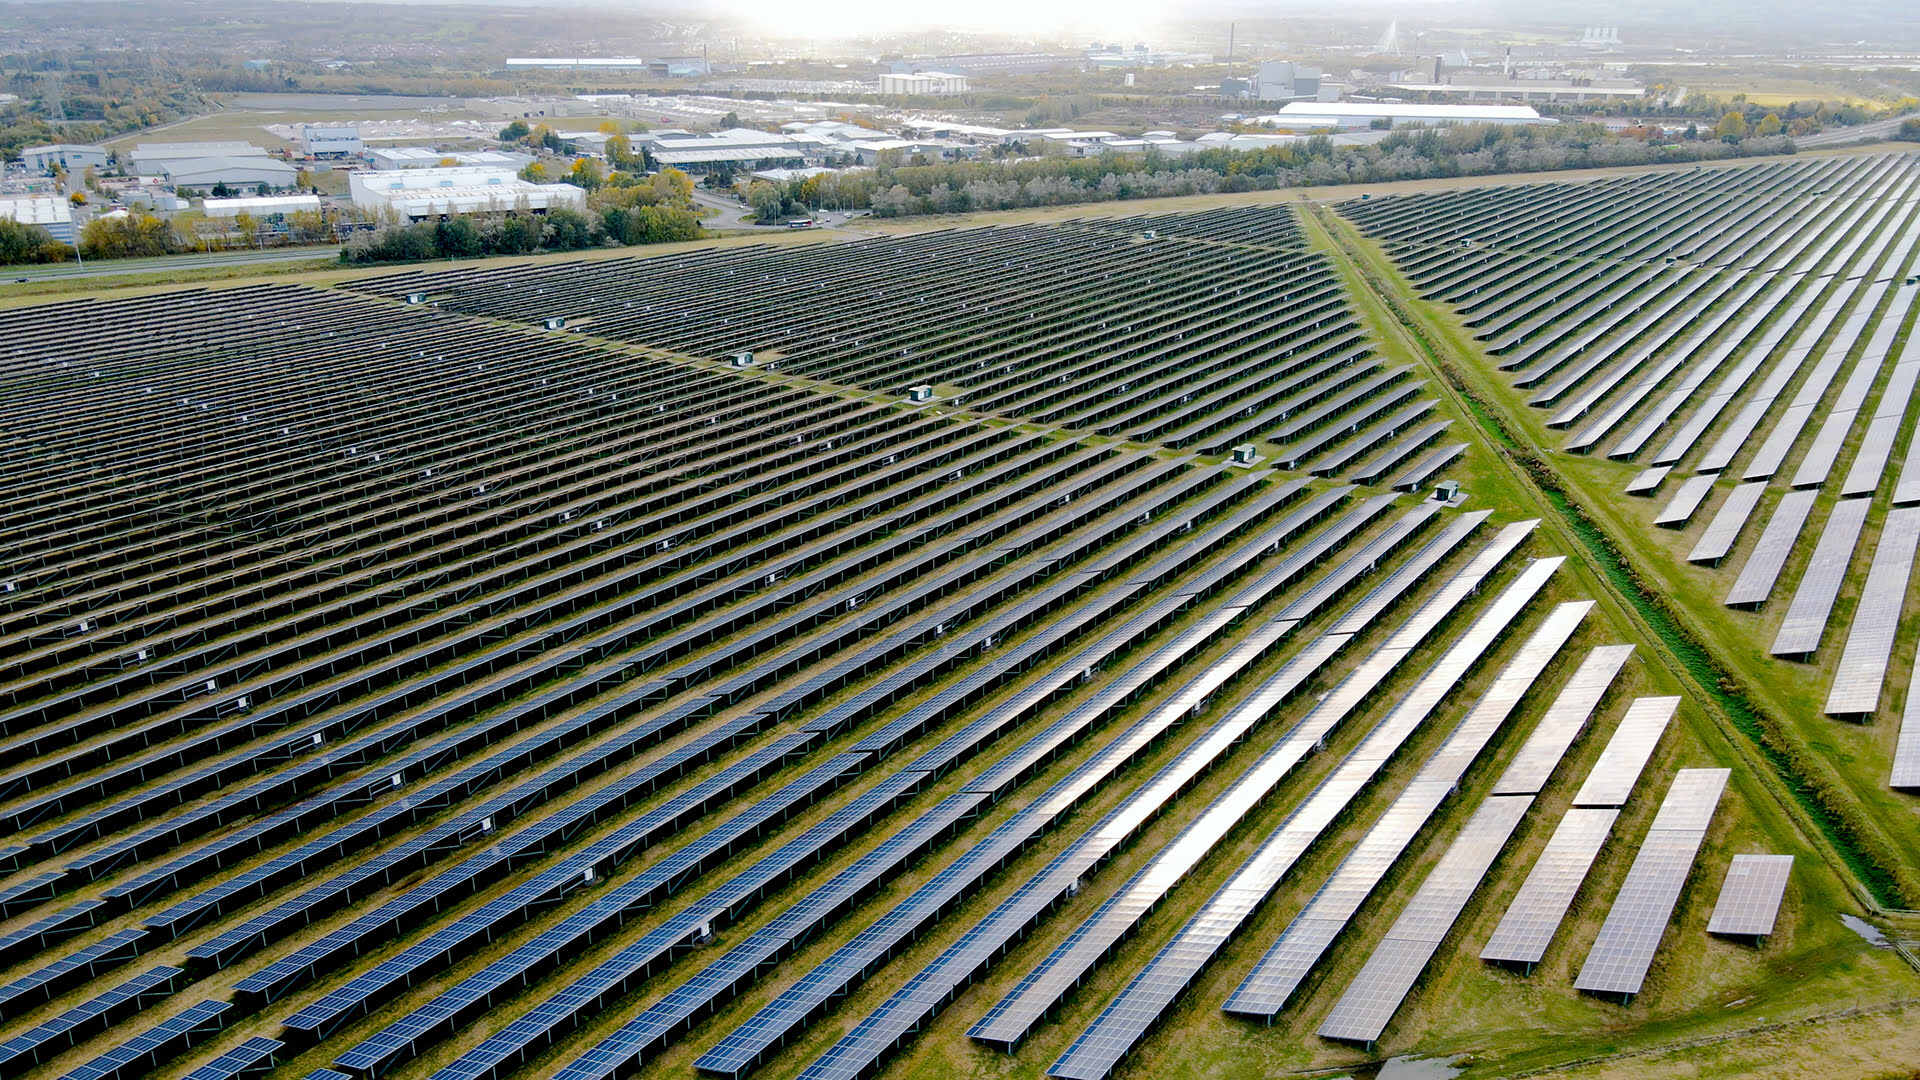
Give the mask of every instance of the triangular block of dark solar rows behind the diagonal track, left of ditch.
M 849 244 L 422 269 L 359 282 L 1096 434 L 1415 488 L 1448 430 L 1373 356 L 1294 209 L 945 229 Z

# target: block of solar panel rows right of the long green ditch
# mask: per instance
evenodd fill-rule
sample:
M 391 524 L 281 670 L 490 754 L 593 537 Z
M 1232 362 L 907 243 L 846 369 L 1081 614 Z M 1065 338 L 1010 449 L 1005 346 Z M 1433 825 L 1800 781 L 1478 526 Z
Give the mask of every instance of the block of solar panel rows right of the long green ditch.
M 1914 158 L 1885 154 L 1340 211 L 1459 307 L 1565 452 L 1644 465 L 1624 488 L 1651 500 L 1642 521 L 1692 532 L 1686 559 L 1755 613 L 1766 653 L 1820 663 L 1845 623 L 1826 711 L 1868 719 L 1887 707 L 1920 503 L 1920 344 L 1901 338 L 1920 309 L 1916 194 Z

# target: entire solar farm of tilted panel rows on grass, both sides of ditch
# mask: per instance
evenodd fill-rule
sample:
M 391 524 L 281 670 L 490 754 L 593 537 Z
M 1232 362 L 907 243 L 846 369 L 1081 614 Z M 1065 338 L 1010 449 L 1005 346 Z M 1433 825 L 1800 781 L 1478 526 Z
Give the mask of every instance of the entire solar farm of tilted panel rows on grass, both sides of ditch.
M 0 1076 L 1912 1030 L 1914 161 L 0 309 Z

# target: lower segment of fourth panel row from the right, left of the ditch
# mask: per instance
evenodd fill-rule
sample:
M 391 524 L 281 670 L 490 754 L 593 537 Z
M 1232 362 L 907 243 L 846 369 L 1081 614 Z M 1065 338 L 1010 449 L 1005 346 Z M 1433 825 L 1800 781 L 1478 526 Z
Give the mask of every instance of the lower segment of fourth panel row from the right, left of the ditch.
M 1532 803 L 1532 796 L 1488 796 L 1480 803 L 1327 1013 L 1321 1036 L 1359 1043 L 1380 1038 Z

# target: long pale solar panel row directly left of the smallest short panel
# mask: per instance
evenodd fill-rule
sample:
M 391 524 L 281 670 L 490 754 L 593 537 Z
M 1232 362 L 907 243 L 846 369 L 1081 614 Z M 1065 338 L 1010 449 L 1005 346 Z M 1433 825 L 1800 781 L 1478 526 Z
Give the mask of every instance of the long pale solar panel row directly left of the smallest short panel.
M 1682 769 L 1674 774 L 1653 828 L 1642 840 L 1574 978 L 1576 990 L 1624 997 L 1640 994 L 1720 792 L 1726 790 L 1726 776 L 1728 769 Z

